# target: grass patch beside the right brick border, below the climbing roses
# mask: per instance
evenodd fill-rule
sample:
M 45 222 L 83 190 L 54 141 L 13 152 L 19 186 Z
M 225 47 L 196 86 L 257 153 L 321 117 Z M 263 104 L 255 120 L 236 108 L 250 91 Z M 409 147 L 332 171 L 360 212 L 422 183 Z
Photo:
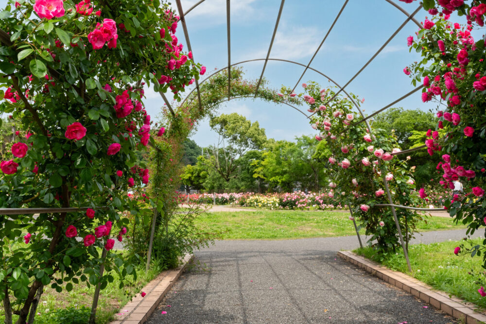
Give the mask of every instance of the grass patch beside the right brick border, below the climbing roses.
M 482 239 L 473 240 L 482 244 Z M 464 241 L 446 241 L 432 244 L 417 244 L 409 247 L 408 255 L 412 265 L 412 273 L 407 273 L 414 278 L 430 285 L 438 290 L 474 303 L 486 309 L 486 298 L 481 297 L 478 289 L 481 285 L 474 283 L 474 277 L 469 275 L 481 273 L 483 257 L 470 255 L 456 256 L 453 251 L 456 246 Z M 377 256 L 373 249 L 367 247 L 353 252 L 382 263 L 382 265 L 403 273 L 407 272 L 407 264 L 403 252 L 391 253 L 387 256 Z

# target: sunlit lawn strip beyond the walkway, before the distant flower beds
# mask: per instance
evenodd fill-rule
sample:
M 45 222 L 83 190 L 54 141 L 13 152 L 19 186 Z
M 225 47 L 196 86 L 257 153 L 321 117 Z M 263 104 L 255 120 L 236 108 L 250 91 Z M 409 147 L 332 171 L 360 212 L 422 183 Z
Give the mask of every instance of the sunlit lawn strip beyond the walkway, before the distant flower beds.
M 344 212 L 234 211 L 207 212 L 195 219 L 195 225 L 208 232 L 223 232 L 223 239 L 299 239 L 356 235 L 349 214 Z M 429 217 L 420 222 L 420 232 L 459 229 L 451 218 Z M 364 230 L 362 231 L 364 233 Z

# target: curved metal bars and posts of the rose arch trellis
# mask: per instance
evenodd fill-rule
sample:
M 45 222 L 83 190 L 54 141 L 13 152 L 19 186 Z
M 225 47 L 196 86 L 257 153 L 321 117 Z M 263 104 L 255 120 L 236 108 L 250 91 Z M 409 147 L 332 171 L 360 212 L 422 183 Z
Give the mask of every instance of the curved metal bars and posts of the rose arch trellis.
M 189 10 L 187 10 L 185 13 L 182 11 L 182 5 L 180 3 L 180 0 L 176 0 L 176 3 L 177 3 L 177 9 L 178 9 L 178 12 L 179 12 L 179 15 L 180 15 L 180 20 L 182 22 L 182 26 L 184 28 L 184 34 L 186 36 L 186 41 L 188 43 L 188 47 L 189 49 L 191 50 L 190 48 L 190 43 L 189 43 L 189 34 L 188 34 L 188 31 L 187 31 L 187 26 L 185 24 L 185 16 L 187 14 L 189 14 L 194 8 L 196 8 L 198 5 L 200 5 L 202 2 L 204 2 L 205 0 L 200 0 L 198 1 L 197 3 L 195 3 Z M 330 29 L 328 30 L 327 34 L 325 35 L 324 39 L 322 40 L 322 42 L 320 43 L 319 47 L 317 48 L 317 50 L 314 52 L 310 62 L 307 64 L 307 65 L 304 65 L 304 64 L 301 64 L 301 63 L 297 63 L 297 62 L 294 62 L 294 61 L 290 61 L 290 60 L 284 60 L 284 59 L 271 59 L 269 58 L 270 56 L 270 52 L 271 52 L 271 49 L 272 49 L 272 45 L 273 45 L 273 42 L 274 42 L 274 39 L 275 39 L 275 34 L 277 32 L 277 28 L 278 28 L 278 23 L 279 23 L 279 20 L 280 20 L 280 16 L 281 16 L 281 13 L 282 13 L 282 9 L 283 9 L 283 6 L 284 6 L 284 2 L 285 0 L 281 0 L 281 3 L 280 3 L 280 8 L 279 8 L 279 11 L 278 11 L 278 17 L 277 17 L 277 21 L 276 21 L 276 24 L 275 24 L 275 28 L 274 28 L 274 32 L 273 32 L 273 35 L 272 35 L 272 39 L 270 41 L 270 45 L 269 45 L 269 49 L 268 49 L 268 52 L 267 52 L 267 56 L 265 59 L 253 59 L 253 60 L 246 60 L 246 61 L 242 61 L 242 62 L 239 62 L 239 63 L 234 63 L 234 64 L 231 64 L 231 47 L 230 47 L 230 41 L 231 41 L 231 37 L 230 37 L 230 10 L 229 10 L 229 5 L 230 5 L 230 0 L 226 0 L 226 29 L 227 29 L 227 48 L 228 48 L 228 66 L 225 67 L 225 68 L 222 68 L 214 73 L 212 73 L 211 75 L 209 75 L 205 80 L 203 80 L 202 82 L 205 82 L 206 80 L 208 80 L 211 76 L 213 76 L 214 74 L 224 70 L 224 69 L 228 69 L 228 101 L 231 99 L 230 98 L 230 87 L 231 87 L 231 81 L 230 81 L 230 73 L 231 73 L 231 66 L 234 66 L 234 65 L 238 65 L 238 64 L 243 64 L 243 63 L 246 63 L 246 62 L 251 62 L 251 61 L 260 61 L 260 60 L 264 60 L 265 63 L 263 65 L 263 69 L 262 69 L 262 72 L 261 72 L 261 75 L 260 75 L 260 79 L 258 81 L 258 85 L 260 85 L 260 82 L 263 78 L 263 74 L 264 74 L 264 71 L 265 71 L 265 67 L 266 67 L 266 64 L 269 60 L 275 60 L 275 61 L 283 61 L 283 62 L 289 62 L 289 63 L 293 63 L 293 64 L 298 64 L 298 65 L 301 65 L 303 67 L 305 67 L 302 75 L 300 76 L 299 80 L 297 81 L 297 83 L 295 84 L 294 88 L 292 89 L 292 92 L 295 90 L 295 87 L 298 85 L 298 83 L 300 82 L 300 80 L 302 79 L 302 77 L 304 76 L 304 74 L 306 73 L 306 71 L 308 69 L 311 69 L 319 74 L 321 74 L 322 76 L 326 77 L 328 80 L 330 80 L 332 83 L 334 83 L 338 88 L 339 88 L 339 91 L 336 92 L 336 94 L 330 98 L 328 100 L 328 102 L 325 102 L 325 104 L 328 104 L 330 101 L 334 100 L 336 98 L 336 96 L 340 93 L 340 92 L 344 92 L 347 97 L 351 100 L 351 102 L 353 103 L 353 105 L 357 108 L 357 110 L 359 111 L 362 119 L 360 121 L 358 121 L 357 123 L 361 123 L 361 122 L 365 122 L 366 124 L 366 128 L 368 129 L 369 131 L 369 134 L 371 136 L 373 136 L 373 132 L 372 132 L 372 129 L 368 123 L 368 119 L 371 118 L 372 116 L 375 116 L 376 114 L 378 114 L 379 112 L 391 107 L 393 104 L 401 101 L 402 99 L 410 96 L 411 94 L 415 93 L 416 91 L 420 90 L 422 88 L 422 86 L 418 86 L 417 88 L 415 88 L 414 90 L 410 91 L 409 93 L 405 94 L 404 96 L 400 97 L 398 100 L 388 104 L 387 106 L 383 107 L 382 109 L 376 111 L 375 113 L 373 113 L 372 115 L 366 117 L 364 116 L 364 113 L 363 111 L 361 110 L 361 108 L 359 107 L 359 105 L 352 99 L 351 96 L 349 96 L 349 94 L 347 93 L 347 91 L 345 90 L 345 88 L 347 87 L 347 85 L 349 85 L 377 56 L 378 54 L 388 45 L 388 43 L 399 33 L 399 31 L 409 22 L 409 21 L 413 21 L 419 29 L 422 28 L 422 25 L 417 21 L 417 19 L 414 17 L 417 12 L 422 8 L 422 5 L 420 4 L 418 6 L 418 8 L 412 13 L 412 14 L 409 14 L 406 10 L 404 10 L 401 6 L 399 6 L 397 3 L 395 3 L 394 1 L 392 0 L 386 0 L 386 2 L 388 2 L 390 5 L 394 6 L 395 8 L 397 8 L 401 13 L 403 13 L 405 16 L 407 16 L 406 20 L 399 26 L 399 28 L 385 41 L 385 43 L 382 45 L 382 47 L 364 64 L 364 66 L 358 70 L 358 72 L 344 85 L 344 86 L 340 86 L 338 85 L 336 82 L 334 82 L 330 77 L 328 77 L 327 75 L 325 75 L 324 73 L 314 69 L 314 68 L 311 68 L 310 65 L 312 63 L 312 60 L 314 59 L 314 57 L 316 56 L 317 52 L 320 50 L 320 48 L 322 47 L 323 43 L 325 42 L 326 38 L 328 37 L 328 35 L 330 34 L 332 28 L 334 27 L 336 21 L 338 20 L 338 18 L 340 17 L 341 13 L 343 12 L 343 10 L 345 9 L 347 3 L 348 3 L 348 0 L 346 0 L 341 8 L 341 10 L 339 11 L 339 13 L 337 14 L 336 18 L 334 19 L 333 23 L 331 24 L 330 26 Z M 201 83 L 202 83 L 201 82 Z M 257 90 L 255 92 L 255 96 L 256 96 L 256 93 L 258 91 L 258 85 L 257 85 Z M 197 85 L 196 83 L 196 90 L 197 90 L 197 94 L 198 94 L 198 100 L 199 100 L 199 105 L 201 105 L 201 99 L 200 99 L 200 90 L 199 90 L 199 86 Z M 194 90 L 192 90 L 190 92 L 190 94 L 188 95 L 188 97 L 191 95 L 191 93 L 193 92 Z M 172 108 L 170 107 L 169 105 L 169 102 L 167 101 L 167 99 L 165 98 L 165 96 L 161 93 L 162 97 L 164 98 L 165 102 L 167 103 L 169 109 L 172 111 Z M 186 97 L 184 99 L 184 101 L 181 103 L 183 104 L 184 102 L 187 101 L 188 97 Z M 288 103 L 286 103 L 288 104 Z M 289 104 L 290 105 L 290 104 Z M 294 107 L 295 109 L 297 109 L 296 107 Z M 299 110 L 299 109 L 297 109 Z M 300 110 L 299 110 L 300 111 Z M 307 116 L 305 113 L 303 113 L 302 111 L 300 111 L 302 114 L 304 114 L 305 116 Z M 314 115 L 315 112 L 313 114 L 311 114 L 310 116 L 307 116 L 307 118 L 310 118 L 312 117 L 312 115 Z M 374 137 L 374 136 L 373 136 Z M 422 149 L 424 146 L 421 146 L 421 147 L 418 147 L 418 148 L 415 148 L 415 149 L 410 149 L 410 150 L 406 150 L 406 151 L 403 151 L 403 152 L 411 152 L 411 151 L 415 151 L 415 150 L 418 150 L 418 149 Z M 399 154 L 399 153 L 395 153 L 394 155 L 396 154 Z M 407 260 L 407 265 L 408 265 L 408 268 L 409 270 L 411 270 L 411 266 L 410 266 L 410 261 L 408 259 L 408 254 L 407 254 L 407 251 L 406 251 L 406 248 L 405 248 L 405 245 L 404 245 L 404 242 L 403 242 L 403 236 L 401 234 L 401 230 L 399 228 L 399 222 L 398 222 L 398 219 L 397 219 L 397 215 L 396 215 L 396 211 L 395 211 L 395 207 L 396 205 L 393 204 L 393 201 L 391 199 L 391 195 L 390 195 L 390 190 L 389 190 L 389 187 L 388 187 L 388 183 L 386 181 L 386 179 L 384 178 L 383 176 L 383 184 L 384 184 L 384 187 L 386 189 L 386 193 L 387 193 L 387 198 L 388 198 L 388 201 L 389 201 L 389 206 L 392 210 L 392 214 L 394 216 L 394 219 L 395 219 L 395 222 L 396 222 L 396 225 L 397 225 L 397 229 L 398 229 L 398 232 L 399 232 L 399 237 L 400 237 L 400 241 L 401 241 L 401 244 L 402 244 L 402 247 L 403 247 L 403 251 L 404 251 L 404 254 L 405 254 L 405 258 Z M 354 221 L 353 221 L 354 222 Z M 354 225 L 355 225 L 355 228 L 356 228 L 356 223 L 354 222 Z M 356 232 L 358 234 L 358 239 L 360 239 L 359 237 L 359 233 L 357 231 L 357 228 L 356 228 Z M 361 239 L 360 239 L 360 244 L 361 244 Z

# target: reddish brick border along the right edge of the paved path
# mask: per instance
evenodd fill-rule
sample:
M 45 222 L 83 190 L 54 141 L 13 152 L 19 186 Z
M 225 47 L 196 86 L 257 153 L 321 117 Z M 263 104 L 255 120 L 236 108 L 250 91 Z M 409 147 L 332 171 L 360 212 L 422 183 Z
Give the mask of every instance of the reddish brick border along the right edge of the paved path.
M 383 281 L 401 290 L 411 293 L 425 303 L 431 304 L 466 324 L 481 324 L 486 322 L 486 315 L 474 311 L 476 305 L 464 302 L 456 297 L 449 297 L 449 294 L 440 290 L 434 290 L 423 282 L 406 275 L 395 272 L 373 262 L 363 256 L 358 256 L 350 251 L 339 251 L 337 255 L 348 262 L 363 268 L 366 272 L 382 279 Z

